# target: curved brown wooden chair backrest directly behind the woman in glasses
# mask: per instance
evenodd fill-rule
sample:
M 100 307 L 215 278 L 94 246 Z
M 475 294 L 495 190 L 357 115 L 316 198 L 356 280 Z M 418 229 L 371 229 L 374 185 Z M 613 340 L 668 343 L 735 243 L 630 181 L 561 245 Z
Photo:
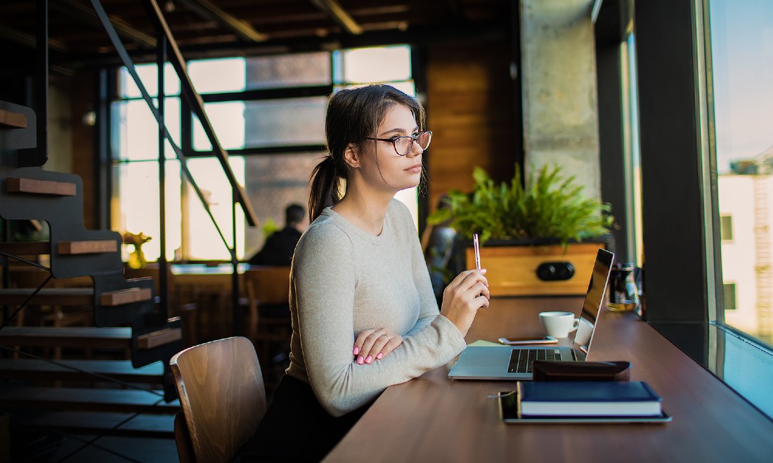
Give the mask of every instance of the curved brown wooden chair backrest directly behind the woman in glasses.
M 169 360 L 185 427 L 175 426 L 182 458 L 230 461 L 252 438 L 266 412 L 266 390 L 253 344 L 230 337 L 182 350 Z

